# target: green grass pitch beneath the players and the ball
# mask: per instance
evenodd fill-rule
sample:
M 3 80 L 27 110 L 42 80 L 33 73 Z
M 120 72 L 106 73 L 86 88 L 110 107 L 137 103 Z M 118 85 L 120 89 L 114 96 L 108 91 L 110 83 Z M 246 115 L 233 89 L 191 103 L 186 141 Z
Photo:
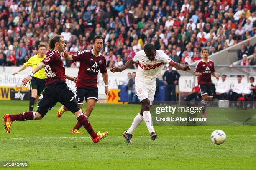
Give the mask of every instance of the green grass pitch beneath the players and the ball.
M 29 161 L 26 169 L 33 170 L 252 170 L 256 167 L 256 126 L 155 126 L 158 139 L 152 141 L 142 122 L 129 144 L 122 134 L 138 114 L 140 105 L 96 104 L 90 122 L 95 130 L 108 130 L 109 135 L 95 144 L 84 128 L 81 128 L 83 135 L 70 133 L 77 120 L 71 112 L 57 118 L 60 106 L 58 103 L 43 120 L 13 122 L 10 134 L 5 132 L 2 120 L 0 161 Z M 28 101 L 0 101 L 1 117 L 26 110 Z M 217 129 L 227 134 L 222 145 L 210 140 L 210 134 Z

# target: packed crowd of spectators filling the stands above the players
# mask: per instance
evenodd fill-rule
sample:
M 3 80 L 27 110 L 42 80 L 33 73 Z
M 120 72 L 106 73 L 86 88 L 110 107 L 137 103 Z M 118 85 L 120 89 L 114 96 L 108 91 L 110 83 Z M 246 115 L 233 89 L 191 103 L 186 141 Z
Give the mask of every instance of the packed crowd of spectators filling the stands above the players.
M 64 36 L 70 53 L 91 49 L 93 37 L 103 35 L 110 68 L 146 43 L 191 64 L 203 48 L 214 54 L 256 36 L 255 10 L 250 0 L 0 0 L 0 65 L 23 65 L 55 34 Z

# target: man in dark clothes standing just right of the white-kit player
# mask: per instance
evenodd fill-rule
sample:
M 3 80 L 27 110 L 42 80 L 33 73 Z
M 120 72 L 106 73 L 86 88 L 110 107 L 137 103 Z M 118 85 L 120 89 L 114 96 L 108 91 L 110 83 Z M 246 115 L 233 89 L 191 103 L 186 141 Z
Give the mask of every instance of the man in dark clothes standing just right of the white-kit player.
M 166 85 L 166 101 L 176 101 L 176 85 L 179 82 L 180 74 L 172 70 L 172 65 L 169 65 L 168 71 L 164 72 L 163 80 Z

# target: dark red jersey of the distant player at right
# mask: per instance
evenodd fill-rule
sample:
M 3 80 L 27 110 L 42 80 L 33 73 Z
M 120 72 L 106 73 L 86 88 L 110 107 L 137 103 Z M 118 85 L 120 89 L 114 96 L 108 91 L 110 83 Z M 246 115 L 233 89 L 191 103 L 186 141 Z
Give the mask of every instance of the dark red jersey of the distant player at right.
M 195 72 L 200 72 L 202 73 L 201 76 L 197 77 L 198 84 L 207 84 L 211 85 L 212 84 L 212 78 L 211 75 L 214 70 L 214 63 L 212 60 L 208 60 L 208 62 L 204 62 L 203 60 L 199 61 L 197 63 L 197 66 L 195 67 Z

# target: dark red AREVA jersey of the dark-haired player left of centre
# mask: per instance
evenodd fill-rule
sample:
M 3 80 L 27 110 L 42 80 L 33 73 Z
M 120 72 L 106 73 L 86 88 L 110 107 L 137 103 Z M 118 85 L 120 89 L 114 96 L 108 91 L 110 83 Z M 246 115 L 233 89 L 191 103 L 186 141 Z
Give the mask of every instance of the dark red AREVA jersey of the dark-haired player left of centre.
M 97 87 L 97 75 L 107 72 L 104 55 L 95 56 L 93 50 L 81 51 L 73 57 L 73 62 L 80 61 L 76 87 Z

